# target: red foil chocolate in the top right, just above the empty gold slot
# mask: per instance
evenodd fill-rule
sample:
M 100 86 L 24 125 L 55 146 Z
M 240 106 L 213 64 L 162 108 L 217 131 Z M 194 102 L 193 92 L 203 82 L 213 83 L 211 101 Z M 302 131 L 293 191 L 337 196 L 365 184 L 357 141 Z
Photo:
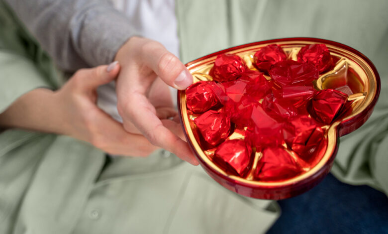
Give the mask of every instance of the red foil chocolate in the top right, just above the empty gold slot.
M 302 47 L 297 55 L 298 62 L 312 64 L 319 73 L 333 66 L 333 58 L 325 44 L 311 44 Z

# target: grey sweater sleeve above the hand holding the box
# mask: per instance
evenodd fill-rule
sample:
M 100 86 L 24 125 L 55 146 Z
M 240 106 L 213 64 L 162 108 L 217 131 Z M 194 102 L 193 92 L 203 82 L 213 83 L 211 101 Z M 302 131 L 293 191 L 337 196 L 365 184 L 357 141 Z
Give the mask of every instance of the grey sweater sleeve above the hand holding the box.
M 111 62 L 136 30 L 109 0 L 6 0 L 56 64 L 66 70 Z

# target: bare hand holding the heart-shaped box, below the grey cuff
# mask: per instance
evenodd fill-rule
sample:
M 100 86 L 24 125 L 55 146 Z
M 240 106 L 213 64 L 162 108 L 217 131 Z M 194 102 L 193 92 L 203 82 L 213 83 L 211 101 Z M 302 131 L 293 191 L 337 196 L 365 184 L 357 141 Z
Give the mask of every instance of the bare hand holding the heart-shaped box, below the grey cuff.
M 186 89 L 193 77 L 181 61 L 160 43 L 139 37 L 129 39 L 117 52 L 122 65 L 116 82 L 117 109 L 124 129 L 142 133 L 156 146 L 194 165 L 198 162 L 184 141 L 168 86 Z

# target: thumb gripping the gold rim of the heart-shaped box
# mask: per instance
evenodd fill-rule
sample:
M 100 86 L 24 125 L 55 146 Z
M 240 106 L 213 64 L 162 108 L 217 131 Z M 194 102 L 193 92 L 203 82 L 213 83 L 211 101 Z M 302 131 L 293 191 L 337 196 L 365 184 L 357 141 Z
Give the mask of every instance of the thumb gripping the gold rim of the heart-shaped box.
M 170 53 L 162 44 L 149 42 L 143 46 L 143 61 L 166 84 L 184 90 L 193 84 L 193 76 L 177 56 Z

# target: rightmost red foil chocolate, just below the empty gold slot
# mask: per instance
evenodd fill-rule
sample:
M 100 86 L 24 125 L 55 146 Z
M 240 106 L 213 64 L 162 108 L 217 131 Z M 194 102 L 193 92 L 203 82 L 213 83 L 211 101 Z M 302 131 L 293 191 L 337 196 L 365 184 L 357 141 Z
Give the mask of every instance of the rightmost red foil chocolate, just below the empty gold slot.
M 348 95 L 332 89 L 317 92 L 310 100 L 308 112 L 311 117 L 324 123 L 330 124 L 346 109 Z

